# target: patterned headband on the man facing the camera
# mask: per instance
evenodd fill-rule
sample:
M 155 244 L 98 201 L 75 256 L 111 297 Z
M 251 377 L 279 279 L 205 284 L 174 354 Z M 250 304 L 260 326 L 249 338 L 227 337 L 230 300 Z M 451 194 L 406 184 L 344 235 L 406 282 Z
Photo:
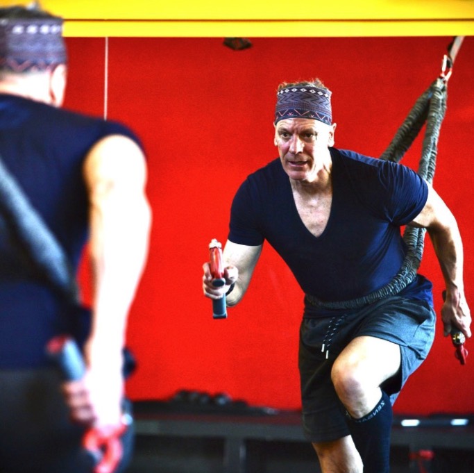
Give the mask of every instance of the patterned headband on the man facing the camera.
M 332 124 L 331 91 L 312 85 L 289 86 L 276 94 L 275 124 L 287 118 L 312 118 Z

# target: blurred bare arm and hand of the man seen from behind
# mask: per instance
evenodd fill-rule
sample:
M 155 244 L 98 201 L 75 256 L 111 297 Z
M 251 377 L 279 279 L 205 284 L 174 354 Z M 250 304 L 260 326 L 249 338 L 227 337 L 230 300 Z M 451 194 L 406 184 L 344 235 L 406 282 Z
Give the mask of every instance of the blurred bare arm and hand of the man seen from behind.
M 82 384 L 69 385 L 67 399 L 73 418 L 105 426 L 120 416 L 122 349 L 146 262 L 151 211 L 144 156 L 129 138 L 112 135 L 98 142 L 83 170 L 90 198 L 93 317 L 84 353 L 87 374 Z

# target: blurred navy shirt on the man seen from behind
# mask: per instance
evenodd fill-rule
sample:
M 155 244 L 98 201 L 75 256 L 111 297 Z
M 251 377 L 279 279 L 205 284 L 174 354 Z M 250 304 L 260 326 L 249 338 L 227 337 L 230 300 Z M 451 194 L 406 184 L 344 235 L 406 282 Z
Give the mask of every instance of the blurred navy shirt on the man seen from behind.
M 83 163 L 96 142 L 116 134 L 139 144 L 117 122 L 0 94 L 1 159 L 62 244 L 74 272 L 88 231 Z M 0 261 L 0 368 L 46 365 L 46 343 L 60 333 L 84 336 L 87 311 L 62 300 L 32 269 L 1 215 Z

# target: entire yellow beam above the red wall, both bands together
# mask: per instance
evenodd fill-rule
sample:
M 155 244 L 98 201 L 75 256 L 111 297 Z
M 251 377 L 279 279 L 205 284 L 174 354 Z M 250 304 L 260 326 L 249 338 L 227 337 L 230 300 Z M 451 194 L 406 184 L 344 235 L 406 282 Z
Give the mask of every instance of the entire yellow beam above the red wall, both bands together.
M 1 0 L 2 5 L 28 4 Z M 474 0 L 42 0 L 67 36 L 474 35 Z

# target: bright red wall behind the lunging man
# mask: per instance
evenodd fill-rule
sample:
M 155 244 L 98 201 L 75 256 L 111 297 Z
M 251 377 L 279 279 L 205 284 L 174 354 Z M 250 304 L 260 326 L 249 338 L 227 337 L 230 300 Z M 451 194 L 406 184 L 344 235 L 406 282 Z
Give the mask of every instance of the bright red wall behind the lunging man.
M 230 203 L 246 175 L 277 156 L 278 83 L 322 78 L 333 91 L 337 147 L 379 156 L 439 74 L 450 40 L 255 38 L 251 49 L 232 51 L 221 38 L 110 38 L 108 117 L 142 138 L 153 206 L 149 262 L 128 329 L 139 361 L 130 397 L 167 399 L 194 389 L 299 408 L 301 290 L 267 244 L 244 300 L 228 320 L 214 321 L 201 292 L 208 244 L 225 242 Z M 102 115 L 105 40 L 68 38 L 67 45 L 66 106 Z M 464 237 L 471 305 L 473 76 L 474 38 L 466 38 L 449 82 L 434 185 Z M 403 163 L 416 168 L 420 148 L 418 140 Z M 434 281 L 439 310 L 443 282 L 430 242 L 421 272 Z M 460 366 L 440 321 L 437 329 L 428 360 L 398 398 L 400 413 L 474 411 L 474 358 Z

